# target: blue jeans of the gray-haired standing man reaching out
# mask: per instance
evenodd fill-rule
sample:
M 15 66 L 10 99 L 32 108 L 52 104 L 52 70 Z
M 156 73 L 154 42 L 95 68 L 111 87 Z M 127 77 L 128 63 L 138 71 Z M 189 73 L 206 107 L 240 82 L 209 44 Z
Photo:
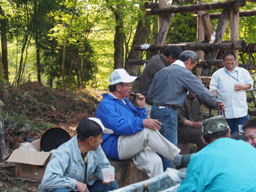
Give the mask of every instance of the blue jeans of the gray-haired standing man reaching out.
M 168 141 L 173 143 L 173 145 L 177 146 L 177 110 L 161 106 L 153 105 L 150 113 L 151 119 L 157 119 L 162 123 L 160 133 L 165 137 Z M 173 167 L 173 162 L 169 159 L 166 159 L 162 155 L 160 155 L 163 161 L 163 171 L 167 169 L 167 167 Z

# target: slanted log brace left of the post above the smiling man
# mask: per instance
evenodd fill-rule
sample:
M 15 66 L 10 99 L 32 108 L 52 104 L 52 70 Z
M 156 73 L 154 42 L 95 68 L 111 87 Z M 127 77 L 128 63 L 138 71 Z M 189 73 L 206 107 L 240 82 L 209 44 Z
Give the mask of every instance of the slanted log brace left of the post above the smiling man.
M 229 9 L 223 9 L 221 12 L 221 18 L 219 19 L 219 23 L 216 27 L 216 38 L 214 41 L 215 43 L 220 43 L 222 41 L 223 35 L 227 28 L 228 21 L 229 21 Z M 219 49 L 208 51 L 206 55 L 206 59 L 216 59 L 218 52 L 219 52 Z M 203 67 L 201 76 L 208 76 L 208 77 L 211 76 L 211 70 L 212 70 L 211 66 Z

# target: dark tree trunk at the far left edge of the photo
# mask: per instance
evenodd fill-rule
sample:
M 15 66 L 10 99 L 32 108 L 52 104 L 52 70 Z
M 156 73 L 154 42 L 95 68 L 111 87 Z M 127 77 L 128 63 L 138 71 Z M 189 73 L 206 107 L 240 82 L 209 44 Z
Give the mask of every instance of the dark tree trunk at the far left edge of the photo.
M 0 6 L 1 16 L 5 17 L 5 12 Z M 9 72 L 8 72 L 8 53 L 7 53 L 7 36 L 6 36 L 6 23 L 5 19 L 1 20 L 1 47 L 2 47 L 2 62 L 3 62 L 3 71 L 5 71 L 5 79 L 9 82 Z

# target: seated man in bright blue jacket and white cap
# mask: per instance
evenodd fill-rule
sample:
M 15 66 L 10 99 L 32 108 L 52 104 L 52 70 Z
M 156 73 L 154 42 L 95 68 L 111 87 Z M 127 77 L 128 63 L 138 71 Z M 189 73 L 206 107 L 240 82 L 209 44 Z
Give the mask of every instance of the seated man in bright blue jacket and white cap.
M 157 119 L 147 119 L 145 97 L 136 94 L 137 108 L 127 99 L 131 94 L 131 82 L 136 78 L 125 69 L 115 69 L 109 76 L 110 93 L 103 94 L 95 115 L 105 127 L 113 130 L 113 134 L 103 135 L 103 150 L 111 159 L 132 159 L 133 164 L 149 177 L 163 173 L 163 163 L 157 153 L 177 166 L 186 166 L 191 155 L 178 155 L 180 149 L 159 133 L 161 123 Z

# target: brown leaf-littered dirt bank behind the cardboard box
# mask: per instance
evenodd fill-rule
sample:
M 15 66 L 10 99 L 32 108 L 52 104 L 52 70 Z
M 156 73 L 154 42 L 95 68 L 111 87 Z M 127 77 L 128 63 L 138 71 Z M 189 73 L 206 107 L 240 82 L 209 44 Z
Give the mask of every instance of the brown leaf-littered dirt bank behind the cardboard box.
M 75 128 L 82 119 L 95 117 L 102 94 L 107 92 L 87 89 L 73 92 L 45 87 L 38 82 L 24 83 L 19 88 L 7 84 L 0 90 L 0 99 L 5 104 L 1 107 L 4 111 L 1 116 L 5 123 L 5 142 L 12 151 L 27 137 L 40 138 L 51 126 L 61 127 L 75 135 Z M 8 120 L 9 116 L 17 117 L 19 121 L 15 118 Z M 42 125 L 42 129 L 35 131 L 33 127 L 33 131 L 21 131 L 23 122 L 27 121 L 39 127 Z M 50 127 L 43 127 L 45 123 Z M 0 191 L 38 191 L 39 181 L 15 179 L 14 175 L 14 167 L 2 167 L 0 163 Z

